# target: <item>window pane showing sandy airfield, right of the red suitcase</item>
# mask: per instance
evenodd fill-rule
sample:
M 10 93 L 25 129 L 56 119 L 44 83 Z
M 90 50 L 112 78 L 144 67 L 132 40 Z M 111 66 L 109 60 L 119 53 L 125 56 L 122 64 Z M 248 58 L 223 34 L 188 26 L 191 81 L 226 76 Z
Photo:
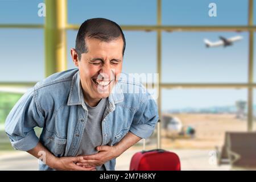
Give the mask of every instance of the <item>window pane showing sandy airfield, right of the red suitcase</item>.
M 183 170 L 227 170 L 217 166 L 226 131 L 246 131 L 246 89 L 162 91 L 162 148 L 180 156 Z

